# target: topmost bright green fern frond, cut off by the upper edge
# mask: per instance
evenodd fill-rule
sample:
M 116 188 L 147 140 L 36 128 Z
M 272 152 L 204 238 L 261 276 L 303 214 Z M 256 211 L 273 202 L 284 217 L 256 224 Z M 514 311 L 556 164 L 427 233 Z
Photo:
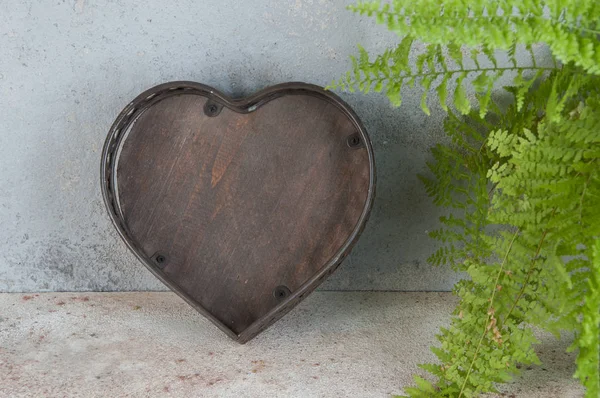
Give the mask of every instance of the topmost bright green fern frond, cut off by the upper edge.
M 544 9 L 552 10 L 545 15 Z M 513 51 L 516 43 L 547 43 L 563 63 L 600 74 L 600 7 L 595 0 L 474 1 L 394 0 L 359 2 L 350 10 L 376 16 L 399 36 L 427 43 L 482 45 L 488 51 Z M 515 10 L 516 9 L 516 10 Z M 451 10 L 451 13 L 448 11 Z

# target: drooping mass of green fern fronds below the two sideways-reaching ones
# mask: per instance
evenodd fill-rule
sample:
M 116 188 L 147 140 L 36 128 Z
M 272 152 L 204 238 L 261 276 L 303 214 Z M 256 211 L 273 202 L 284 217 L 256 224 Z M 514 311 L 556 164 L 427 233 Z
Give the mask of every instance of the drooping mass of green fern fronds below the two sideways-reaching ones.
M 536 363 L 535 339 L 524 322 L 556 335 L 561 330 L 585 333 L 573 345 L 583 347 L 576 376 L 586 386 L 586 396 L 597 395 L 598 267 L 590 260 L 594 254 L 581 257 L 581 247 L 595 247 L 600 236 L 600 95 L 596 77 L 577 73 L 577 68 L 565 68 L 535 89 L 529 85 L 523 94 L 514 90 L 522 103 L 515 100 L 500 128 L 490 131 L 477 152 L 478 162 L 463 160 L 471 159 L 468 143 L 480 142 L 478 129 L 449 114 L 446 129 L 458 145 L 436 148 L 428 189 L 434 198 L 443 198 L 438 204 L 467 211 L 441 219 L 446 228 L 431 236 L 443 246 L 431 260 L 466 271 L 471 280 L 457 284 L 458 316 L 442 330 L 442 347 L 434 350 L 444 370 L 431 372 L 435 396 L 493 391 L 495 383 L 517 371 L 517 363 Z M 471 123 L 477 120 L 470 115 Z M 490 202 L 488 181 L 495 184 Z M 462 190 L 465 182 L 470 184 Z M 479 227 L 473 229 L 474 224 Z M 493 224 L 504 228 L 481 231 Z M 516 239 L 503 232 L 515 227 L 520 231 Z M 509 254 L 498 268 L 490 260 L 502 252 Z M 569 257 L 576 258 L 565 260 Z M 493 321 L 486 313 L 485 297 L 490 296 Z M 473 342 L 478 338 L 477 350 Z M 407 393 L 421 396 L 423 390 L 417 386 Z

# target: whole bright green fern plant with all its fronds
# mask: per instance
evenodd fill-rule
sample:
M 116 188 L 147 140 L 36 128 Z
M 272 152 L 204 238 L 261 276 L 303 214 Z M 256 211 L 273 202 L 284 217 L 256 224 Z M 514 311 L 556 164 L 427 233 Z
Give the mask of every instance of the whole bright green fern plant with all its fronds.
M 433 202 L 447 209 L 442 227 L 430 233 L 441 245 L 429 261 L 470 279 L 455 285 L 460 303 L 432 348 L 440 364 L 422 366 L 434 380 L 416 378 L 406 392 L 494 391 L 518 373 L 518 363 L 539 363 L 533 324 L 575 333 L 576 377 L 586 397 L 597 397 L 600 3 L 394 0 L 350 8 L 402 40 L 374 60 L 360 48 L 352 72 L 332 87 L 374 87 L 400 105 L 404 87 L 416 83 L 425 113 L 432 93 L 448 113 L 451 143 L 433 148 L 429 175 L 420 176 Z M 562 64 L 540 65 L 539 42 Z M 520 64 L 521 49 L 528 64 Z M 508 65 L 500 65 L 498 51 Z M 493 94 L 506 74 L 514 101 L 501 109 Z

